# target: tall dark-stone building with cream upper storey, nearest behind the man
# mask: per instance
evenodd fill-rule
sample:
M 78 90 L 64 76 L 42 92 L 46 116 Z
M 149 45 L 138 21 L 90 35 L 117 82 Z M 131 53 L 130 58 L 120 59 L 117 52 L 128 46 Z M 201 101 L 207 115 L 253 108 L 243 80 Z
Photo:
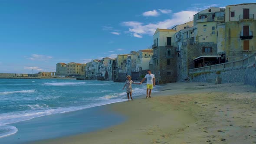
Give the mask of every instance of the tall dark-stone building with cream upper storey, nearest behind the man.
M 156 29 L 153 36 L 153 70 L 157 84 L 176 82 L 176 55 L 174 47 L 174 29 Z

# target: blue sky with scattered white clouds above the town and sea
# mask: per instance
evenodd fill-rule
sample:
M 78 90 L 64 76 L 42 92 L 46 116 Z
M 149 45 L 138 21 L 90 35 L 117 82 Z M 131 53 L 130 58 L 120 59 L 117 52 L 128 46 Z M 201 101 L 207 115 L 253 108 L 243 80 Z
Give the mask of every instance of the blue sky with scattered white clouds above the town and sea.
M 0 0 L 0 72 L 55 71 L 147 49 L 156 28 L 193 20 L 208 7 L 254 0 Z

